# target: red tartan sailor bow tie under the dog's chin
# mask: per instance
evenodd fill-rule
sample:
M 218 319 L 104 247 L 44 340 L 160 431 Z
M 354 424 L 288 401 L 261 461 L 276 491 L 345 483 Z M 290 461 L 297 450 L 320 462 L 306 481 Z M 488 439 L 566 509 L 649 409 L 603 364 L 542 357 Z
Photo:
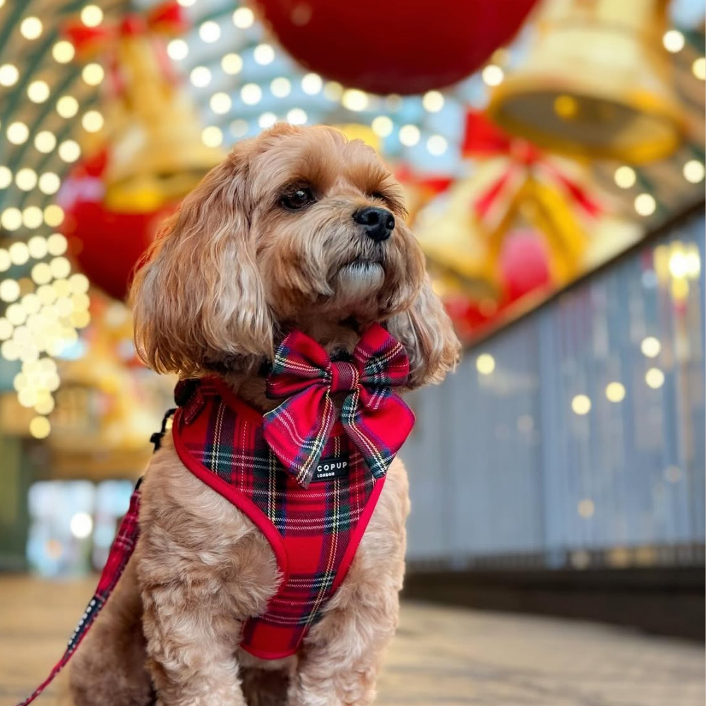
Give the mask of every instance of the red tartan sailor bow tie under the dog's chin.
M 273 453 L 306 488 L 336 421 L 331 395 L 345 393 L 340 421 L 376 478 L 387 472 L 414 425 L 412 410 L 393 393 L 409 376 L 402 345 L 373 324 L 351 362 L 331 361 L 323 347 L 300 331 L 277 349 L 267 395 L 285 398 L 263 415 L 263 433 Z

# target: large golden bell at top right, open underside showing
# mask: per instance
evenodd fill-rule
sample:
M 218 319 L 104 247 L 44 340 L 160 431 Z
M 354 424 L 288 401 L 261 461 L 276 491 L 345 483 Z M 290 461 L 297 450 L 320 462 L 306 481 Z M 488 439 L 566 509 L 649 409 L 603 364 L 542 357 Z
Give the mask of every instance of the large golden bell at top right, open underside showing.
M 662 47 L 669 0 L 547 0 L 527 63 L 493 90 L 507 131 L 575 157 L 650 162 L 681 142 Z

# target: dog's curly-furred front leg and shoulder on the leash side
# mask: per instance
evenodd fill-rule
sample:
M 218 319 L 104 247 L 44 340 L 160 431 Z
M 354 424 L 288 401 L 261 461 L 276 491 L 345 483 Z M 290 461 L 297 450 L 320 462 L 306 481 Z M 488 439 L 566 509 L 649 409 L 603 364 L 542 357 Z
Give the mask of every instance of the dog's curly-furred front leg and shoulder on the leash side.
M 157 706 L 244 706 L 241 622 L 275 592 L 275 557 L 252 522 L 164 446 L 143 485 L 135 555 Z

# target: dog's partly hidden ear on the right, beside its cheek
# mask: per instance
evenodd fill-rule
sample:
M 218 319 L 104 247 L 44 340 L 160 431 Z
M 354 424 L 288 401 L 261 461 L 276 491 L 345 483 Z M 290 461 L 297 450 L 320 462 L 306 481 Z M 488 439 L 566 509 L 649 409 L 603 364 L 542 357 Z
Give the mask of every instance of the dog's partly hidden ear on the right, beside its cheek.
M 407 349 L 409 390 L 440 383 L 458 362 L 461 345 L 429 275 L 412 307 L 390 318 L 388 330 Z

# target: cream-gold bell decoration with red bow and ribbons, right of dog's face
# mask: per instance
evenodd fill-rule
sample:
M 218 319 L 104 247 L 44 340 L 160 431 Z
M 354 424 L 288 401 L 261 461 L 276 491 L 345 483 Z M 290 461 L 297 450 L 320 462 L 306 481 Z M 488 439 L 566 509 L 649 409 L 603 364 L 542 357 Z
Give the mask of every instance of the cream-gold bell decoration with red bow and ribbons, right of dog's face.
M 582 272 L 604 204 L 583 169 L 508 136 L 469 111 L 462 145 L 475 160 L 419 213 L 415 232 L 461 335 L 513 302 Z

